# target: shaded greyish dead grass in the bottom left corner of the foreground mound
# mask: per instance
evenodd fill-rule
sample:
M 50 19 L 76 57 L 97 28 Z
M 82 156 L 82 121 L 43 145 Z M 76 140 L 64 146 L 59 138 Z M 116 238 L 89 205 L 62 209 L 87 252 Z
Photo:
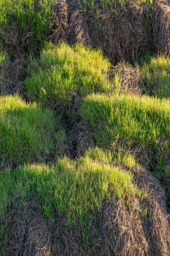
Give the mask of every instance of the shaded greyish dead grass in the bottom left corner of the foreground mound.
M 50 225 L 45 224 L 41 216 L 40 205 L 35 201 L 22 202 L 21 199 L 13 198 L 7 207 L 5 215 L 1 218 L 1 223 L 10 227 L 7 231 L 6 245 L 1 238 L 1 255 L 50 255 Z

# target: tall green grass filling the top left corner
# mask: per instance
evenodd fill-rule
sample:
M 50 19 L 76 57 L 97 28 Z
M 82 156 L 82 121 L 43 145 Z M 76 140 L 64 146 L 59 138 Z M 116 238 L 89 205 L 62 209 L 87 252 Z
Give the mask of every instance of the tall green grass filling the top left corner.
M 14 55 L 18 50 L 38 54 L 50 35 L 53 4 L 54 0 L 0 0 L 0 47 Z

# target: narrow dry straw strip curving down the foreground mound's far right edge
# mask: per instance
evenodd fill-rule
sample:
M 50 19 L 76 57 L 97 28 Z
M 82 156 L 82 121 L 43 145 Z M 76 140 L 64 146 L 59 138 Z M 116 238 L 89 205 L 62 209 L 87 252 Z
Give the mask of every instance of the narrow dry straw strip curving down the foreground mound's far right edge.
M 166 196 L 164 190 L 148 171 L 140 168 L 136 179 L 140 186 L 148 186 L 148 197 L 145 208 L 148 209 L 144 218 L 144 231 L 148 234 L 149 255 L 165 255 L 170 253 L 170 218 L 166 211 Z M 151 246 L 152 245 L 152 246 Z

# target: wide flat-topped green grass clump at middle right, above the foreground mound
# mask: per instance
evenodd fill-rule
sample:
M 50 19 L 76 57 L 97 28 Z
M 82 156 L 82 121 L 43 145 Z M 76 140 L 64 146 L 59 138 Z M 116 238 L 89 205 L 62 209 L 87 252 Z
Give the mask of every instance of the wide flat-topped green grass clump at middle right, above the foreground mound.
M 170 100 L 137 95 L 86 97 L 82 118 L 90 121 L 99 147 L 125 151 L 141 146 L 150 150 L 151 164 L 168 161 L 170 152 Z

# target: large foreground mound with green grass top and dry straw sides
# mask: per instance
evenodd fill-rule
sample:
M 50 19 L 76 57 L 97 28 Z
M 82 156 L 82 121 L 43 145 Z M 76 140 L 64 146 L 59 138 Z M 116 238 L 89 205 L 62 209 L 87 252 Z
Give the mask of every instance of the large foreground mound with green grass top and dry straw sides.
M 2 255 L 19 251 L 132 256 L 141 255 L 140 249 L 168 256 L 164 193 L 152 176 L 134 166 L 132 158 L 126 161 L 129 169 L 96 148 L 75 161 L 63 158 L 51 167 L 33 164 L 19 168 L 15 175 L 0 173 Z

